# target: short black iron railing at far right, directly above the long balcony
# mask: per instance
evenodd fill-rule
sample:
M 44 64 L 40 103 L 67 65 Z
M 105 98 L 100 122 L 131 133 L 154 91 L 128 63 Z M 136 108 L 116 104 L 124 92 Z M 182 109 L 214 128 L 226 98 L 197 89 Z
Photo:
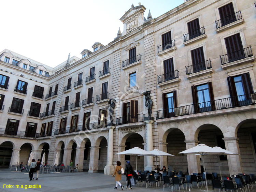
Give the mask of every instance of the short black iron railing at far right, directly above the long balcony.
M 252 56 L 253 56 L 253 52 L 252 52 L 251 46 L 238 51 L 234 51 L 233 53 L 220 55 L 222 65 L 226 63 L 231 63 L 233 61 L 238 61 L 246 57 L 252 57 Z

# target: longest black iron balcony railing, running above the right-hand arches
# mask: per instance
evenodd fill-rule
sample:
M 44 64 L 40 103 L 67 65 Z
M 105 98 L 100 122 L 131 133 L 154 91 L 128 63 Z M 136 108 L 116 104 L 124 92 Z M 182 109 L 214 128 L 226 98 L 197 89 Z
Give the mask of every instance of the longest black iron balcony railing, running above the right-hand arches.
M 156 111 L 156 119 L 165 119 L 189 114 L 210 112 L 247 105 L 255 105 L 256 101 L 252 99 L 252 95 L 256 96 L 256 93 L 239 95 L 236 97 L 229 97 L 170 109 L 158 110 Z

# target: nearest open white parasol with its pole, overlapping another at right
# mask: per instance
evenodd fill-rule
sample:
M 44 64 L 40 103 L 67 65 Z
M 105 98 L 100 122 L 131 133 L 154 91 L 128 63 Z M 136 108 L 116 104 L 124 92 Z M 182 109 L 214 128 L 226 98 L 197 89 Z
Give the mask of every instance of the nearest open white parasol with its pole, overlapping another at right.
M 184 154 L 200 154 L 202 156 L 203 169 L 204 169 L 205 182 L 206 182 L 206 189 L 208 191 L 208 185 L 207 185 L 207 179 L 206 179 L 206 171 L 205 171 L 205 166 L 204 166 L 204 156 L 206 156 L 208 154 L 224 154 L 224 152 L 222 152 L 219 149 L 214 149 L 212 147 L 208 147 L 207 145 L 204 145 L 204 144 L 199 144 L 196 147 L 192 147 L 192 148 L 187 149 L 185 151 L 182 151 L 180 153 L 184 153 Z

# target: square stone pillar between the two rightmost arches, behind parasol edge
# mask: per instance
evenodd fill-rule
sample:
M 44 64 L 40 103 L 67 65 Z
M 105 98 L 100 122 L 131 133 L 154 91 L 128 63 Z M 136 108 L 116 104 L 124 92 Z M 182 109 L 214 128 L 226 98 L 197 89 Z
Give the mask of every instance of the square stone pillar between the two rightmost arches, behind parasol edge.
M 225 141 L 226 150 L 232 151 L 240 154 L 239 149 L 239 138 L 237 137 L 224 137 L 222 138 Z M 229 174 L 234 175 L 238 173 L 243 173 L 242 160 L 240 155 L 228 155 L 228 168 Z

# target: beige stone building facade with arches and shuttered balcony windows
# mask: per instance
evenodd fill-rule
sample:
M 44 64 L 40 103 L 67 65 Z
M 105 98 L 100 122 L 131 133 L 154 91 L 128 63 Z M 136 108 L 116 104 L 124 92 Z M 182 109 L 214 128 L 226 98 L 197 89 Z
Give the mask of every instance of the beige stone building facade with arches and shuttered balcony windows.
M 2 165 L 18 151 L 25 163 L 46 152 L 49 164 L 58 153 L 59 164 L 112 174 L 117 160 L 136 162 L 116 153 L 140 147 L 175 157 L 138 157 L 138 170 L 160 162 L 200 173 L 199 156 L 179 154 L 200 142 L 241 154 L 206 157 L 207 172 L 220 164 L 225 175 L 255 173 L 255 0 L 187 0 L 155 19 L 145 9 L 132 5 L 112 42 L 55 68 L 0 53 Z M 154 120 L 145 118 L 145 91 Z

